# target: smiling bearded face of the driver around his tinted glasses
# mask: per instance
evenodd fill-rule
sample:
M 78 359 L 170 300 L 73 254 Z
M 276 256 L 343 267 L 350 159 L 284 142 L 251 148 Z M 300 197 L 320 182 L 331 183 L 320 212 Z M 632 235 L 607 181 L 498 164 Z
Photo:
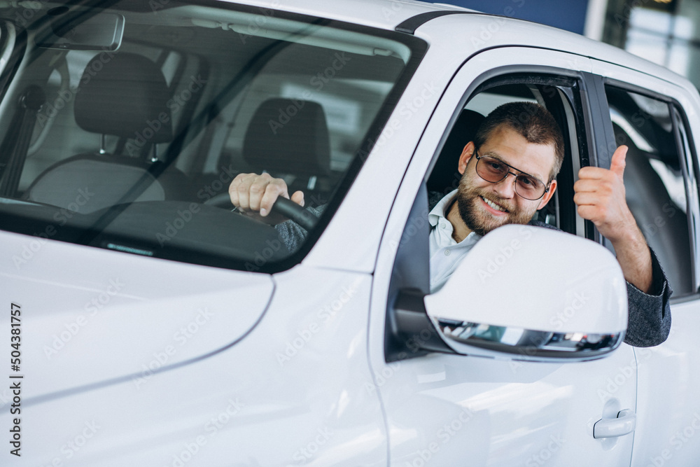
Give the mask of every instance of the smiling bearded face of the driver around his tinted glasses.
M 526 224 L 535 211 L 542 209 L 552 197 L 556 181 L 539 200 L 526 200 L 515 193 L 514 176 L 491 183 L 476 172 L 477 160 L 472 157 L 474 144 L 465 146 L 459 158 L 458 169 L 462 174 L 457 192 L 460 217 L 473 232 L 486 235 L 505 224 Z M 554 166 L 554 144 L 532 144 L 510 127 L 501 125 L 478 148 L 479 156 L 491 156 L 512 165 L 521 172 L 540 179 L 545 185 Z M 518 173 L 513 169 L 511 172 Z

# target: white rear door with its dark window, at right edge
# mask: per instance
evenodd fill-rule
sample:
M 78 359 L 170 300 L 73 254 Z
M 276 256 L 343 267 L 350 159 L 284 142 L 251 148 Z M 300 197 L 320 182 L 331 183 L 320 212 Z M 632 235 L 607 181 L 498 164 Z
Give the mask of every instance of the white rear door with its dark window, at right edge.
M 669 83 L 598 60 L 593 67 L 604 77 L 617 144 L 629 147 L 627 203 L 673 288 L 668 340 L 634 349 L 638 418 L 632 465 L 694 465 L 700 459 L 697 91 L 681 78 Z

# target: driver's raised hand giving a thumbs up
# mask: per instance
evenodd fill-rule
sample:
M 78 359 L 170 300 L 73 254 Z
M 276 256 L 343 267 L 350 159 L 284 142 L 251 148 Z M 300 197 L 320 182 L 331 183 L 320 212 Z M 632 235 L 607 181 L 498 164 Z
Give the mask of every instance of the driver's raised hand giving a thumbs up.
M 627 146 L 619 146 L 612 155 L 610 169 L 583 167 L 574 183 L 574 202 L 578 214 L 593 222 L 601 235 L 615 242 L 638 236 L 639 228 L 624 197 Z

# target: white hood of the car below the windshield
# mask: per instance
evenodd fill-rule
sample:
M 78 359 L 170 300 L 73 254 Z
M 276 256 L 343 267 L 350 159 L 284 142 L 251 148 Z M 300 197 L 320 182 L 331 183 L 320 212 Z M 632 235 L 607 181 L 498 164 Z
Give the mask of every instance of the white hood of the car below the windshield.
M 22 306 L 31 329 L 25 370 L 41 379 L 27 388 L 29 399 L 119 379 L 138 386 L 154 372 L 220 351 L 250 332 L 274 291 L 265 274 L 164 267 L 143 256 L 0 237 L 21 252 L 3 263 L 0 291 Z M 100 348 L 109 351 L 98 358 Z

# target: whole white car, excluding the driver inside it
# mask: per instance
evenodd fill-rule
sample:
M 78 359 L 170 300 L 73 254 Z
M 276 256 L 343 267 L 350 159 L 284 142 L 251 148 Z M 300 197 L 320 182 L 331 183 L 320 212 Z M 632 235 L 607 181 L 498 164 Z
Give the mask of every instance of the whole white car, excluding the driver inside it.
M 0 465 L 700 461 L 685 78 L 512 8 L 1 3 Z M 426 194 L 511 101 L 563 130 L 538 218 L 564 232 L 499 228 L 430 294 Z M 657 347 L 622 343 L 622 272 L 572 199 L 619 144 L 674 290 Z M 232 212 L 263 170 L 323 214 Z

